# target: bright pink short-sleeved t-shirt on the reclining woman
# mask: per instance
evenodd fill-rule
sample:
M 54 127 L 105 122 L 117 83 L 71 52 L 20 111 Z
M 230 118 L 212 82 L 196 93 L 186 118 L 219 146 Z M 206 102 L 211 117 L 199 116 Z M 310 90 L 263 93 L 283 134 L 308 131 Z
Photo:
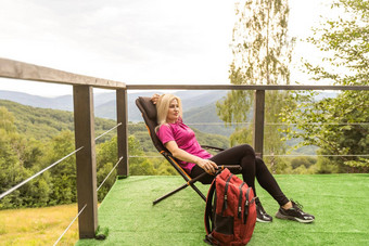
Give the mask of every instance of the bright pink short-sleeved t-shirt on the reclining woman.
M 169 141 L 176 141 L 179 148 L 190 153 L 191 155 L 203 159 L 212 157 L 212 154 L 200 146 L 193 130 L 186 126 L 180 118 L 175 124 L 162 125 L 157 130 L 156 135 L 163 144 Z M 180 160 L 179 165 L 187 173 L 191 173 L 192 168 L 195 166 L 195 164 L 183 160 Z

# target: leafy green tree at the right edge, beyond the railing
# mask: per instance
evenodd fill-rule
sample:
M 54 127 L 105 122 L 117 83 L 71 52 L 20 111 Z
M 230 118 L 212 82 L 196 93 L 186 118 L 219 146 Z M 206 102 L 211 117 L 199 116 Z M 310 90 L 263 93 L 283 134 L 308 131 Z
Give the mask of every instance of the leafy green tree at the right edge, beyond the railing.
M 305 62 L 306 72 L 317 81 L 329 80 L 333 85 L 369 85 L 369 1 L 335 0 L 332 10 L 340 14 L 314 29 L 307 39 L 319 48 L 325 57 L 322 64 Z M 300 138 L 301 145 L 317 145 L 320 154 L 335 155 L 328 159 L 339 171 L 369 170 L 369 93 L 343 91 L 336 98 L 316 102 L 316 92 L 295 92 L 293 107 L 285 108 L 282 119 L 297 124 L 289 129 L 289 138 Z M 361 156 L 360 156 L 361 155 Z M 327 160 L 318 161 L 327 168 Z

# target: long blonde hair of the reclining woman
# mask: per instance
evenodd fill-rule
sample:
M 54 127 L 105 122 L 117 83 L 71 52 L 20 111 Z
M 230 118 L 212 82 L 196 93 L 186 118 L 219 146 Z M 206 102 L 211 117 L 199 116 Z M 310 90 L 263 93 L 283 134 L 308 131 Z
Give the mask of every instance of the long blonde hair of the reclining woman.
M 179 116 L 182 118 L 182 102 L 180 99 L 174 94 L 162 94 L 156 102 L 157 127 L 155 128 L 155 131 L 157 131 L 163 124 L 166 124 L 169 105 L 173 100 L 177 100 L 179 106 Z

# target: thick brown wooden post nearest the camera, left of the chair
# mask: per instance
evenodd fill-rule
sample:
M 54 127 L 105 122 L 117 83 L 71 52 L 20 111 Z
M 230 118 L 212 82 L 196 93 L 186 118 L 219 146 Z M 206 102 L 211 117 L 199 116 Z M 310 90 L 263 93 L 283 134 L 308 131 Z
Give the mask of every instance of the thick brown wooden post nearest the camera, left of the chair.
M 74 86 L 74 121 L 76 154 L 79 238 L 93 238 L 98 229 L 97 164 L 92 87 Z

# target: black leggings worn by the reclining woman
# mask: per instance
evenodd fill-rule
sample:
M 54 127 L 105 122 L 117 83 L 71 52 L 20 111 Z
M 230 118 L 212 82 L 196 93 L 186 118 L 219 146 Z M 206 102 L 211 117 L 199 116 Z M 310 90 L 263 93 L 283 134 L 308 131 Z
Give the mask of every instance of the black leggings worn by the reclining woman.
M 263 159 L 255 157 L 254 148 L 249 144 L 242 144 L 234 147 L 230 147 L 216 154 L 209 159 L 216 163 L 218 166 L 241 165 L 243 181 L 246 182 L 246 184 L 254 190 L 255 196 L 256 196 L 255 190 L 255 177 L 256 177 L 257 182 L 260 184 L 260 186 L 265 189 L 278 202 L 280 206 L 283 206 L 289 202 L 289 199 L 284 196 L 283 192 L 279 187 L 277 181 L 268 170 Z M 205 172 L 205 170 L 196 165 L 192 168 L 190 176 L 191 178 L 194 178 L 203 172 Z M 209 184 L 212 183 L 213 179 L 214 176 L 205 174 L 200 180 L 200 182 L 204 184 Z

